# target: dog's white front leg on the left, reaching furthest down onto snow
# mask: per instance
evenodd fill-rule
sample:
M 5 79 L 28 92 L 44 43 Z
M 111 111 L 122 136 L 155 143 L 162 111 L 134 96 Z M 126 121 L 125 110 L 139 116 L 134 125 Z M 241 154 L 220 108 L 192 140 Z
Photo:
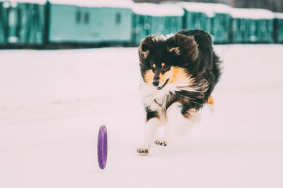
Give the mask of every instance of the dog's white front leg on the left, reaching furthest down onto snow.
M 137 149 L 138 153 L 147 154 L 149 149 L 154 142 L 154 137 L 156 136 L 156 129 L 160 126 L 160 121 L 158 118 L 151 118 L 144 125 L 144 142 L 141 147 Z

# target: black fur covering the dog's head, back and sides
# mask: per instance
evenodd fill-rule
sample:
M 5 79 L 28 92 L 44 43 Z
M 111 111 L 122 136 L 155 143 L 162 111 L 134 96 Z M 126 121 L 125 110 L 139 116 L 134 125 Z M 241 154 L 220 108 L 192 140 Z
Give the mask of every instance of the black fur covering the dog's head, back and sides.
M 181 88 L 178 92 L 170 92 L 165 96 L 165 110 L 178 101 L 182 105 L 181 113 L 184 117 L 188 117 L 190 115 L 187 113 L 190 109 L 195 108 L 198 111 L 204 106 L 216 83 L 219 82 L 221 61 L 214 53 L 212 39 L 202 30 L 180 30 L 166 40 L 158 40 L 155 37 L 154 35 L 146 37 L 139 46 L 141 75 L 146 81 L 144 75 L 148 70 L 152 69 L 156 73 L 159 71 L 156 75 L 160 72 L 164 73 L 161 68 L 163 62 L 169 67 L 184 68 L 187 75 L 195 79 L 194 84 L 190 86 L 194 91 Z M 156 68 L 153 68 L 154 64 Z M 158 117 L 158 113 L 151 111 L 149 106 L 145 108 L 147 120 Z

